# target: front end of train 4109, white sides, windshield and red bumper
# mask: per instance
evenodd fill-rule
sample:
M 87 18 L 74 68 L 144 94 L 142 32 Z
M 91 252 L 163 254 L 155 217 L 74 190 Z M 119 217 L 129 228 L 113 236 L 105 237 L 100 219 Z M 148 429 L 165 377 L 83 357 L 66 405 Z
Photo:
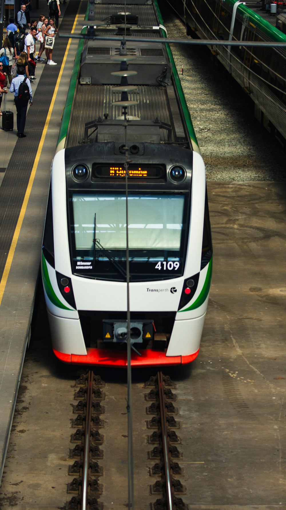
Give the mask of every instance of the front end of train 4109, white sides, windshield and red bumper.
M 199 351 L 212 276 L 204 163 L 184 148 L 138 146 L 128 179 L 132 365 L 185 364 Z M 114 176 L 123 163 L 110 142 L 53 161 L 42 276 L 53 349 L 66 363 L 127 364 L 125 178 Z M 79 168 L 86 176 L 76 180 Z

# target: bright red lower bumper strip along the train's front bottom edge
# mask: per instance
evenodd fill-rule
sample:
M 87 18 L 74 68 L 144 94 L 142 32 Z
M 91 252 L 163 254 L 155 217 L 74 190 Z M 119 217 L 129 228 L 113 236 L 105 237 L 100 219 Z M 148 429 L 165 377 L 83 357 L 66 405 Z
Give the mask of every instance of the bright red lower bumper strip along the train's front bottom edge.
M 105 365 L 107 367 L 126 367 L 126 351 L 116 351 L 111 349 L 87 349 L 87 355 L 79 356 L 77 354 L 65 354 L 53 349 L 57 358 L 64 363 L 79 365 Z M 132 351 L 132 367 L 151 367 L 153 365 L 186 365 L 194 361 L 199 353 L 199 349 L 194 354 L 188 356 L 166 356 L 165 352 L 146 349 L 140 351 L 141 356 Z

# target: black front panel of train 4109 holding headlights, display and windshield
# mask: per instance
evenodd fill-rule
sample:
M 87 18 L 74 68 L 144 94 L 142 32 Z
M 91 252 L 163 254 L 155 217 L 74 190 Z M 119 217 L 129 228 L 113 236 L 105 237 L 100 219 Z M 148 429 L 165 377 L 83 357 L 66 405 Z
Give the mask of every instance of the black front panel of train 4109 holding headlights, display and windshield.
M 125 156 L 119 149 L 108 142 L 65 151 L 74 274 L 126 281 Z M 129 159 L 130 279 L 181 276 L 189 232 L 192 152 L 140 143 L 138 154 Z

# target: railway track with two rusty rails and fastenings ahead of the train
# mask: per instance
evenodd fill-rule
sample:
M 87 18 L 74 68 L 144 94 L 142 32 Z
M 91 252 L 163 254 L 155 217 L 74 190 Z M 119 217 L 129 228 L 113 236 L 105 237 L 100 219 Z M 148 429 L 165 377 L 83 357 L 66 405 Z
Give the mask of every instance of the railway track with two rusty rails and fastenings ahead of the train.
M 71 435 L 71 442 L 76 443 L 70 449 L 73 464 L 69 467 L 69 475 L 73 479 L 68 483 L 68 494 L 72 497 L 66 502 L 66 510 L 102 510 L 100 495 L 103 484 L 100 477 L 103 468 L 100 459 L 104 455 L 105 438 L 101 434 L 105 420 L 105 382 L 91 370 L 76 380 L 76 391 L 73 405 L 72 427 L 76 431 Z M 186 489 L 179 477 L 184 475 L 179 466 L 181 452 L 178 449 L 180 439 L 177 436 L 179 422 L 178 410 L 174 405 L 177 397 L 173 393 L 175 386 L 170 377 L 158 371 L 146 383 L 145 393 L 146 427 L 148 444 L 152 449 L 148 452 L 150 460 L 149 475 L 150 495 L 156 497 L 150 501 L 151 510 L 187 510 L 181 495 Z M 108 427 L 108 423 L 107 423 Z M 101 449 L 103 445 L 103 449 Z M 153 465 L 151 465 L 154 462 Z M 107 481 L 108 485 L 108 481 Z

